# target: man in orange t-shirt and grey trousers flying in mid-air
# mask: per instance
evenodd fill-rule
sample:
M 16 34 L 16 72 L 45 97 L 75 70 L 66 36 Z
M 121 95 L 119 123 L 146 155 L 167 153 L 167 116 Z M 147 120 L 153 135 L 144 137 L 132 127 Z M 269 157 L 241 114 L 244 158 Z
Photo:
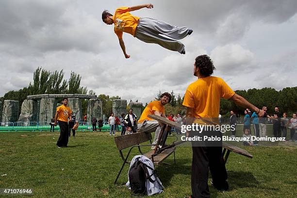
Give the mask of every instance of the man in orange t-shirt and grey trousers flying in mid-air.
M 178 51 L 185 54 L 184 45 L 173 39 L 182 39 L 190 35 L 193 30 L 186 27 L 177 27 L 170 25 L 164 21 L 152 18 L 139 18 L 132 16 L 129 12 L 139 10 L 141 8 L 153 8 L 152 4 L 137 5 L 133 7 L 121 7 L 115 10 L 115 16 L 110 14 L 107 10 L 102 12 L 102 20 L 107 25 L 115 24 L 115 34 L 118 37 L 121 49 L 126 58 L 130 55 L 126 53 L 125 44 L 123 41 L 123 32 L 130 33 L 132 36 L 142 40 L 146 43 L 159 44 L 163 48 Z M 170 38 L 161 36 L 166 35 Z

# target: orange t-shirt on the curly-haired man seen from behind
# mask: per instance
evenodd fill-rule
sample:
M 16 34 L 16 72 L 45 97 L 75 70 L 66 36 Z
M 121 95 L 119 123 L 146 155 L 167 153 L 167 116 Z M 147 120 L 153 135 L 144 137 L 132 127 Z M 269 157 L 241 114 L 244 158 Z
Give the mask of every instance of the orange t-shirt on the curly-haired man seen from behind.
M 234 94 L 223 79 L 208 76 L 188 86 L 182 105 L 194 108 L 194 117 L 217 118 L 220 98 L 230 99 Z

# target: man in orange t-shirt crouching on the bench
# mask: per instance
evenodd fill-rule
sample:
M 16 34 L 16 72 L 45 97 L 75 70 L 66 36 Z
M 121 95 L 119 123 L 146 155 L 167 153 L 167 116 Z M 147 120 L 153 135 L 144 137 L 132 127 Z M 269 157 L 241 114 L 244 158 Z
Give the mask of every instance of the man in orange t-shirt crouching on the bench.
M 165 115 L 165 104 L 170 101 L 171 95 L 168 92 L 163 93 L 160 100 L 151 101 L 148 104 L 138 120 L 137 127 L 139 129 L 139 132 L 155 132 L 154 141 L 152 143 L 153 145 L 157 144 L 161 127 L 163 127 L 164 124 L 148 117 L 148 115 L 159 115 L 167 118 Z M 160 145 L 162 145 L 162 141 L 165 139 L 165 134 L 166 133 L 164 132 Z M 155 149 L 155 146 L 151 146 L 151 149 Z

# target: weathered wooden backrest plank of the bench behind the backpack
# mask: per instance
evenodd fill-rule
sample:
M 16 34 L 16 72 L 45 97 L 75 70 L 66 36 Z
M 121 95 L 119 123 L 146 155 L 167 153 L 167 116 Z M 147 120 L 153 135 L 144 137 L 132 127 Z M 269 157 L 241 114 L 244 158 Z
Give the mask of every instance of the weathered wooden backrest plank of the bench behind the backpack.
M 132 147 L 143 142 L 151 140 L 150 132 L 135 132 L 131 134 L 121 135 L 115 137 L 115 145 L 118 150 Z

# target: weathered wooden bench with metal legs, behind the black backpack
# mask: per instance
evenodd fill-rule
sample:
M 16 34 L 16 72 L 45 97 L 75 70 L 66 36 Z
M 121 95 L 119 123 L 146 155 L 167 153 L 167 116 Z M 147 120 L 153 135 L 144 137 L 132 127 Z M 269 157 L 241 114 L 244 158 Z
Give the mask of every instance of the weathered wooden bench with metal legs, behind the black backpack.
M 154 153 L 154 150 L 150 150 L 148 153 L 143 153 L 141 150 L 141 147 L 151 147 L 153 146 L 151 143 L 152 136 L 150 132 L 136 132 L 132 134 L 126 134 L 121 136 L 115 137 L 115 145 L 117 149 L 119 150 L 120 156 L 123 160 L 123 165 L 120 169 L 120 171 L 117 174 L 117 177 L 115 179 L 115 183 L 117 179 L 119 178 L 125 164 L 131 164 L 131 162 L 128 161 L 128 157 L 130 155 L 130 152 L 132 151 L 132 148 L 138 147 L 138 150 L 140 154 L 148 157 L 151 159 L 154 165 L 160 165 L 161 163 L 164 163 L 163 161 L 173 153 L 174 155 L 174 164 L 175 164 L 175 147 L 171 147 L 168 149 L 164 149 L 161 152 Z M 150 142 L 150 144 L 140 145 L 144 142 Z M 125 157 L 122 150 L 125 148 L 130 148 L 127 156 Z M 165 163 L 166 164 L 166 163 Z

